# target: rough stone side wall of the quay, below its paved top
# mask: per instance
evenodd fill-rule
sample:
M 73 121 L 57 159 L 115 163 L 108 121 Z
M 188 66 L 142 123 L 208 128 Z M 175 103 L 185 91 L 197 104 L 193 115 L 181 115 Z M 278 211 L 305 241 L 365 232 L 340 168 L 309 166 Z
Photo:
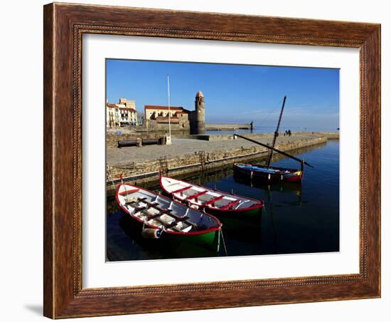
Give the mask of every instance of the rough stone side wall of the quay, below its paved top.
M 302 147 L 309 147 L 325 143 L 327 137 L 311 137 L 294 142 L 284 142 L 276 145 L 278 150 L 289 151 L 296 150 Z M 242 147 L 240 149 L 232 149 L 227 151 L 195 152 L 192 155 L 182 155 L 181 157 L 173 157 L 171 159 L 150 160 L 144 162 L 132 162 L 128 165 L 109 166 L 107 171 L 107 185 L 112 182 L 118 182 L 119 175 L 123 175 L 124 181 L 131 184 L 140 182 L 146 178 L 156 180 L 159 172 L 162 170 L 166 173 L 183 174 L 194 172 L 195 170 L 212 169 L 215 167 L 223 167 L 235 162 L 245 160 L 253 160 L 267 157 L 269 149 L 262 146 Z

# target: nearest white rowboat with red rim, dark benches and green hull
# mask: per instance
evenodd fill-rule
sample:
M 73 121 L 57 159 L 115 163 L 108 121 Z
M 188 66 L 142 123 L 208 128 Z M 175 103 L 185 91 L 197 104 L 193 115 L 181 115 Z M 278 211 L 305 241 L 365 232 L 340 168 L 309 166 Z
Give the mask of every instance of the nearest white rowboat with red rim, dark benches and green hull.
M 143 237 L 217 247 L 220 244 L 222 224 L 210 214 L 132 185 L 118 185 L 115 197 L 119 207 L 142 226 Z

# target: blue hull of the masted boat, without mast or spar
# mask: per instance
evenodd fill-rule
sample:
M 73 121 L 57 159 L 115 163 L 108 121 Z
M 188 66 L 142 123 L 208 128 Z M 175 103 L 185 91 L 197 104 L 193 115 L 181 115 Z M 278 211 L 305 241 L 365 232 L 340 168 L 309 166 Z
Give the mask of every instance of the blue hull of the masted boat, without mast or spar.
M 301 182 L 303 178 L 303 171 L 284 167 L 261 167 L 236 163 L 234 170 L 235 175 L 240 174 L 253 180 L 266 182 Z

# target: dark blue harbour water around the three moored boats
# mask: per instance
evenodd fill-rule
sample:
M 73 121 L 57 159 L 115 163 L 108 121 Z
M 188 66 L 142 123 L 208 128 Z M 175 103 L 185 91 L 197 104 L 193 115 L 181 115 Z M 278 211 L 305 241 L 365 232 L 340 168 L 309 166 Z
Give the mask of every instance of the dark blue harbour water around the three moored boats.
M 266 203 L 255 222 L 222 221 L 225 247 L 222 242 L 219 251 L 193 245 L 172 248 L 159 239 L 143 239 L 114 199 L 107 199 L 107 260 L 339 251 L 339 142 L 329 140 L 294 154 L 314 165 L 314 169 L 306 167 L 301 185 L 242 181 L 234 176 L 232 167 L 181 177 Z M 273 165 L 299 167 L 296 161 L 278 155 Z M 157 182 L 148 188 L 160 191 Z

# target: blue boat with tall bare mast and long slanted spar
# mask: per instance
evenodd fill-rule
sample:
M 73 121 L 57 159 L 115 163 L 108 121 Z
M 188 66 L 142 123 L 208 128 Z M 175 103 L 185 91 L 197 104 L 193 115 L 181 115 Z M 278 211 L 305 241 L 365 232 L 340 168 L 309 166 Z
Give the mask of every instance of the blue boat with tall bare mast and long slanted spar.
M 251 164 L 243 164 L 243 163 L 235 163 L 234 170 L 237 175 L 244 175 L 250 177 L 250 179 L 254 180 L 264 180 L 267 182 L 301 182 L 303 179 L 304 173 L 304 165 L 309 165 L 304 160 L 300 160 L 292 155 L 289 155 L 286 152 L 282 152 L 277 150 L 274 146 L 276 145 L 276 140 L 279 131 L 279 125 L 282 119 L 282 112 L 284 111 L 284 106 L 286 102 L 286 96 L 284 96 L 284 100 L 282 102 L 281 112 L 279 113 L 279 120 L 277 123 L 277 128 L 274 132 L 272 146 L 265 145 L 261 142 L 257 142 L 255 140 L 251 140 L 248 137 L 242 137 L 241 135 L 234 135 L 237 137 L 242 137 L 242 139 L 248 140 L 250 142 L 254 142 L 256 144 L 262 145 L 270 149 L 269 157 L 267 160 L 267 164 L 265 166 L 259 165 L 251 165 Z M 270 162 L 272 162 L 273 152 L 279 152 L 282 155 L 286 155 L 287 157 L 291 157 L 292 159 L 299 161 L 301 163 L 301 169 L 290 169 L 285 167 L 271 167 Z M 309 165 L 312 167 L 311 165 Z

